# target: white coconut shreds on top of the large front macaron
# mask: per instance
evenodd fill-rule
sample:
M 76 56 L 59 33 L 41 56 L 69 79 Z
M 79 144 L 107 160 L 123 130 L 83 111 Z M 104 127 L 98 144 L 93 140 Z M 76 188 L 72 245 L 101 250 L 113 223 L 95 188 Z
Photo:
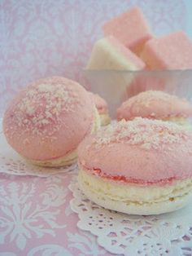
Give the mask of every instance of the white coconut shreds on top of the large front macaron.
M 176 124 L 137 117 L 133 121 L 122 120 L 98 131 L 94 143 L 98 146 L 129 143 L 148 150 L 162 148 L 164 144 L 181 143 L 187 137 L 187 131 Z

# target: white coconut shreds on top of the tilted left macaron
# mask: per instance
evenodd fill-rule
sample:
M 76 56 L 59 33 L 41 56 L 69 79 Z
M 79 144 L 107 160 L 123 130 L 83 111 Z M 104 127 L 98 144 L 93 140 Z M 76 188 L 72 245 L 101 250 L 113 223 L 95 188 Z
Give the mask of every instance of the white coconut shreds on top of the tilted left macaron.
M 57 124 L 51 128 L 55 132 L 61 124 L 61 113 L 73 112 L 75 105 L 81 104 L 73 87 L 63 83 L 29 86 L 15 108 L 17 125 L 25 131 L 33 126 L 33 135 L 40 135 L 46 132 L 45 126 Z

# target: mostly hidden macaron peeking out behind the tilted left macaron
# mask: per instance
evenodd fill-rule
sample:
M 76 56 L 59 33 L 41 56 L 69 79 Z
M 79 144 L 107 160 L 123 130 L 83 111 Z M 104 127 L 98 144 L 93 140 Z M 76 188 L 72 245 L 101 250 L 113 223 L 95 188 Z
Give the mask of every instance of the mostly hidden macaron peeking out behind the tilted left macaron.
M 98 94 L 89 92 L 89 95 L 94 100 L 95 107 L 98 110 L 98 114 L 101 120 L 101 126 L 107 126 L 110 123 L 110 117 L 108 114 L 108 105 L 105 99 Z

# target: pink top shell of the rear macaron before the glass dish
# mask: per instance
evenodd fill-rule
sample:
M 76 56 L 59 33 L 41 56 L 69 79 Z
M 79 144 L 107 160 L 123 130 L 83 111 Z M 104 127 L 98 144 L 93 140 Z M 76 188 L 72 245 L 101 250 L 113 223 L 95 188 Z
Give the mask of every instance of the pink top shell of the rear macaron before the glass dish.
M 121 104 L 117 119 L 134 117 L 166 119 L 168 117 L 191 117 L 192 105 L 185 99 L 159 90 L 146 90 Z

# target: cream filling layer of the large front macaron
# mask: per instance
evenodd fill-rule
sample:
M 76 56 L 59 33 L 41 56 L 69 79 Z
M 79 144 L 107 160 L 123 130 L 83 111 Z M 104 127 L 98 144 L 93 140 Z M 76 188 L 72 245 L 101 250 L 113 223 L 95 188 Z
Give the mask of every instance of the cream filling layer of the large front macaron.
M 142 186 L 103 179 L 80 170 L 78 180 L 85 190 L 112 201 L 150 204 L 174 201 L 177 197 L 192 192 L 192 179 L 177 180 L 171 184 Z

